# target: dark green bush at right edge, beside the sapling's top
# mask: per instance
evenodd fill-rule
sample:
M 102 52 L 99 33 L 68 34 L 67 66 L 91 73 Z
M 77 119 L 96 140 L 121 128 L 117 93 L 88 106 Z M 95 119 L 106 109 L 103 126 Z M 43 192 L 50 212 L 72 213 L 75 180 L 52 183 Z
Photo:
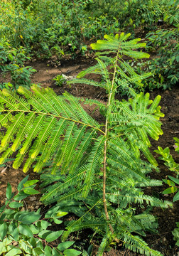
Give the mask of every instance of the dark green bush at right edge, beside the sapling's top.
M 143 88 L 153 90 L 163 88 L 170 89 L 179 79 L 179 44 L 178 29 L 163 30 L 148 33 L 148 43 L 146 49 L 156 54 L 143 63 L 136 65 L 139 73 L 151 71 L 153 77 L 144 82 Z

